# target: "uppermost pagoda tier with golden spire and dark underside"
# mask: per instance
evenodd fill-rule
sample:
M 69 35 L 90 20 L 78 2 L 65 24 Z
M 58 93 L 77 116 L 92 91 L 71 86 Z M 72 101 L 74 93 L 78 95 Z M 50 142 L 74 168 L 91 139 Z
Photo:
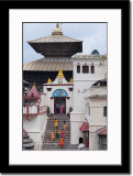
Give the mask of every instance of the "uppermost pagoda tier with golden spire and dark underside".
M 82 41 L 63 34 L 58 23 L 52 35 L 27 42 L 36 53 L 45 57 L 71 57 L 76 53 L 82 52 Z

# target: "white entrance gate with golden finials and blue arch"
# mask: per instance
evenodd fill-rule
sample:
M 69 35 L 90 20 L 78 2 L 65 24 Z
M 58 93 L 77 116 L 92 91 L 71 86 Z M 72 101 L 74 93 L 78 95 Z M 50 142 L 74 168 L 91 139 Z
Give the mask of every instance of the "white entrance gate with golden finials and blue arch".
M 63 74 L 62 68 L 56 79 L 52 82 L 43 84 L 43 92 L 46 94 L 46 105 L 49 107 L 51 114 L 56 114 L 56 106 L 64 106 L 64 113 L 68 114 L 70 107 L 73 108 L 73 79 L 68 82 Z

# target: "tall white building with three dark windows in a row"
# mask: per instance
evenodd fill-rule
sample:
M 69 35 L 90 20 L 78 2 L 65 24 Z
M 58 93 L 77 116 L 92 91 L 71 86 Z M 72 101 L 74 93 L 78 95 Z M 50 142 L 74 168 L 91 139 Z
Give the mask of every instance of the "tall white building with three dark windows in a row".
M 70 113 L 70 142 L 78 144 L 79 138 L 84 138 L 80 127 L 87 122 L 86 106 L 90 87 L 100 79 L 107 78 L 106 55 L 76 55 L 73 57 L 74 67 L 74 111 Z M 96 101 L 97 103 L 97 101 Z M 98 109 L 97 109 L 98 112 Z M 95 114 L 93 114 L 95 116 Z M 99 117 L 98 117 L 99 118 Z M 89 120 L 89 119 L 87 119 Z M 96 123 L 97 123 L 96 119 Z M 99 120 L 98 120 L 99 123 Z M 107 125 L 106 123 L 101 124 Z M 90 140 L 90 139 L 89 139 Z M 93 150 L 93 147 L 91 147 Z

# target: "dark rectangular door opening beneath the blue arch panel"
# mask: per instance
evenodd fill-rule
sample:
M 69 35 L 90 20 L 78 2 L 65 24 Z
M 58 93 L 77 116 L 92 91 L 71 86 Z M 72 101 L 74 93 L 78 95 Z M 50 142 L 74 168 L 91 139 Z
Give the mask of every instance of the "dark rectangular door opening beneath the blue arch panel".
M 54 97 L 54 114 L 60 113 L 60 111 L 57 110 L 57 105 L 58 107 L 63 105 L 63 113 L 66 114 L 66 97 Z

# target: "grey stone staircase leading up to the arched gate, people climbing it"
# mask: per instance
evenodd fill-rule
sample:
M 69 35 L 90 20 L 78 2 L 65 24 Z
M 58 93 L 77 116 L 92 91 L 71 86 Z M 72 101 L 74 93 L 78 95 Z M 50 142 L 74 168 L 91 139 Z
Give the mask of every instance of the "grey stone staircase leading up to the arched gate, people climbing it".
M 62 135 L 62 130 L 64 129 L 64 120 L 66 121 L 66 132 L 64 138 L 64 146 L 60 148 L 59 139 L 56 140 L 56 129 L 54 125 L 55 118 L 58 120 L 57 128 L 59 129 Z M 55 140 L 52 141 L 52 131 L 54 131 Z M 78 150 L 78 145 L 70 144 L 70 118 L 66 114 L 52 116 L 47 120 L 47 127 L 44 136 L 44 144 L 42 150 Z

